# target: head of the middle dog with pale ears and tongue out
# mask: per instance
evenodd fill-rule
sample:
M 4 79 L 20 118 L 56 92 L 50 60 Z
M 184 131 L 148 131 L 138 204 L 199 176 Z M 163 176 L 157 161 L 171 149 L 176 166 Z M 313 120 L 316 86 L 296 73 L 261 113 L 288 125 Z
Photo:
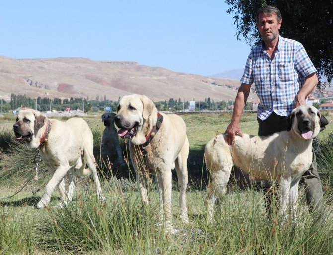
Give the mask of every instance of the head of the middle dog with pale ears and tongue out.
M 155 104 L 144 95 L 126 95 L 121 98 L 114 122 L 119 136 L 131 139 L 133 144 L 140 145 L 146 142 L 145 133 L 157 121 Z

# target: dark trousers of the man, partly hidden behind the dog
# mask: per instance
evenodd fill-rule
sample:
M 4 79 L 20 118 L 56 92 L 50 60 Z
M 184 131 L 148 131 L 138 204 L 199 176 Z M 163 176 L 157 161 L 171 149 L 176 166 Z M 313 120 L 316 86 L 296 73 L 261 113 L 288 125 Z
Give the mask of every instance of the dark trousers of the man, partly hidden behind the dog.
M 260 136 L 269 136 L 273 133 L 287 130 L 287 117 L 272 113 L 266 120 L 257 118 L 259 123 Z M 320 182 L 319 174 L 317 171 L 316 155 L 312 150 L 312 163 L 303 176 L 302 180 L 305 183 L 306 199 L 310 212 L 321 212 L 323 210 L 323 189 Z M 265 192 L 268 192 L 270 185 L 263 183 L 262 185 Z M 267 194 L 267 206 L 270 207 L 271 196 Z

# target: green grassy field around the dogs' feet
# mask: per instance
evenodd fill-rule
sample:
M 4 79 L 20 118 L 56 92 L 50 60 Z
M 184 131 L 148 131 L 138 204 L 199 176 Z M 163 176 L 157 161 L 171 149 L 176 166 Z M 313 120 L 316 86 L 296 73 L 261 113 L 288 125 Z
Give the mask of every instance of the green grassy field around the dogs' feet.
M 300 187 L 298 224 L 287 222 L 281 226 L 279 217 L 268 217 L 263 194 L 251 189 L 240 191 L 232 186 L 215 212 L 215 222 L 206 220 L 204 199 L 206 196 L 207 171 L 203 165 L 203 148 L 216 133 L 225 131 L 230 114 L 182 115 L 187 124 L 190 142 L 188 170 L 190 183 L 187 206 L 190 223 L 183 225 L 178 219 L 177 183 L 174 182 L 172 207 L 176 234 L 165 233 L 156 226 L 158 195 L 155 184 L 149 192 L 151 204 L 143 207 L 136 185 L 127 178 L 103 180 L 107 201 L 96 201 L 90 178 L 77 178 L 77 189 L 72 204 L 57 209 L 60 199 L 56 191 L 47 209 L 37 210 L 34 205 L 43 194 L 48 173 L 40 167 L 40 180 L 30 182 L 22 192 L 10 199 L 0 199 L 0 254 L 86 254 L 86 255 L 169 255 L 169 254 L 222 254 L 222 255 L 293 255 L 333 254 L 332 174 L 328 160 L 320 164 L 323 186 L 326 189 L 326 216 L 310 215 L 303 187 Z M 332 117 L 327 115 L 328 120 Z M 98 153 L 103 131 L 100 116 L 85 118 L 95 138 Z M 0 144 L 4 153 L 0 159 L 0 197 L 13 194 L 34 174 L 34 150 L 13 143 L 14 116 L 0 118 Z M 332 124 L 319 135 L 327 143 Z M 257 134 L 255 114 L 244 114 L 241 129 Z M 123 148 L 125 147 L 122 144 Z M 330 155 L 331 145 L 328 145 Z M 332 156 L 333 158 L 333 156 Z M 131 176 L 127 167 L 113 170 L 117 176 Z M 329 172 L 329 173 L 328 173 Z M 5 174 L 7 173 L 7 174 Z M 320 174 L 321 174 L 320 173 Z M 322 176 L 322 175 L 321 175 Z

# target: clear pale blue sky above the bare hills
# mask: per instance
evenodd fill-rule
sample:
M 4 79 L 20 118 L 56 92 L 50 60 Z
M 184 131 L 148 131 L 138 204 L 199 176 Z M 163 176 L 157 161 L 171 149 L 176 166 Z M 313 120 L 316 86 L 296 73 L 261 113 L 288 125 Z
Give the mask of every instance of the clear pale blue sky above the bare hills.
M 5 0 L 0 55 L 131 60 L 212 75 L 243 69 L 250 53 L 237 41 L 224 0 Z

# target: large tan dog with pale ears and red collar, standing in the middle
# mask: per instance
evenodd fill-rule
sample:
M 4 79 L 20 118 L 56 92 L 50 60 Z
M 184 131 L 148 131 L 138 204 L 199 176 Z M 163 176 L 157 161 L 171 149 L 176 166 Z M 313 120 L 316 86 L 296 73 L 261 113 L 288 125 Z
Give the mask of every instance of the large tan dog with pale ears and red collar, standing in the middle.
M 173 231 L 171 170 L 175 168 L 180 184 L 180 217 L 188 222 L 185 191 L 189 147 L 183 119 L 175 114 L 158 113 L 150 99 L 135 94 L 120 100 L 115 123 L 120 128 L 118 134 L 130 139 L 130 156 L 142 201 L 148 203 L 145 175 L 156 174 L 160 195 L 160 223 L 164 221 L 166 230 Z M 141 160 L 142 153 L 147 154 L 146 159 L 143 157 Z

